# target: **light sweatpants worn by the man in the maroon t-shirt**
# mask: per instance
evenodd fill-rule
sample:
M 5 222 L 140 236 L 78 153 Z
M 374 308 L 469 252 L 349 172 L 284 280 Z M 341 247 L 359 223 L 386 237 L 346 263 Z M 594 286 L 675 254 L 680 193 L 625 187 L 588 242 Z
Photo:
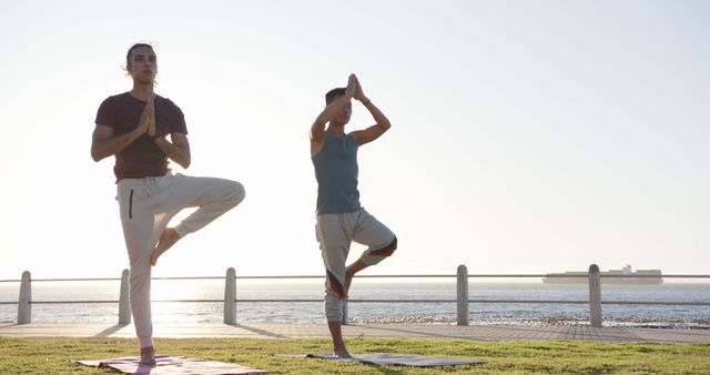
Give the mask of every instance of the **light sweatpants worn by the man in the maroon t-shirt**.
M 131 312 L 141 347 L 152 346 L 153 336 L 151 253 L 170 220 L 183 209 L 199 207 L 175 226 L 183 237 L 240 204 L 244 194 L 244 186 L 235 181 L 170 172 L 119 181 L 121 223 L 131 262 Z

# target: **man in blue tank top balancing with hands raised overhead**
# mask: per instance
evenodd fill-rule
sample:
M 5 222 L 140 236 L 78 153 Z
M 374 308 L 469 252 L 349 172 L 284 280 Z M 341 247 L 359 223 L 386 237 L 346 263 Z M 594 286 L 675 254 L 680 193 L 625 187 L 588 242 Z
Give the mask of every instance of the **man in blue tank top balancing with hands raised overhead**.
M 345 133 L 353 112 L 352 99 L 369 111 L 375 124 Z M 311 126 L 311 160 L 318 182 L 316 237 L 325 265 L 325 316 L 335 354 L 349 357 L 343 342 L 343 300 L 353 276 L 392 255 L 397 237 L 359 204 L 357 191 L 357 149 L 384 134 L 389 120 L 365 97 L 355 74 L 347 88 L 325 94 L 325 110 Z M 327 129 L 326 129 L 327 124 Z M 368 246 L 357 261 L 345 266 L 351 243 Z

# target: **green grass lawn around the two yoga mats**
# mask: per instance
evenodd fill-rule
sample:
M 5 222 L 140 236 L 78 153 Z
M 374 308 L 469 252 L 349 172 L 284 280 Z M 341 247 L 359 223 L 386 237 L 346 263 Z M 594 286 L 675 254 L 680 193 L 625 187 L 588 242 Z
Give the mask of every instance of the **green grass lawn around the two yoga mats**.
M 155 339 L 159 354 L 239 363 L 273 374 L 710 374 L 710 344 L 365 338 L 349 339 L 347 345 L 351 353 L 420 354 L 480 358 L 487 363 L 414 368 L 274 356 L 275 353 L 332 352 L 325 338 Z M 135 352 L 136 343 L 131 338 L 0 337 L 0 374 L 114 374 L 72 361 L 120 357 L 135 355 Z

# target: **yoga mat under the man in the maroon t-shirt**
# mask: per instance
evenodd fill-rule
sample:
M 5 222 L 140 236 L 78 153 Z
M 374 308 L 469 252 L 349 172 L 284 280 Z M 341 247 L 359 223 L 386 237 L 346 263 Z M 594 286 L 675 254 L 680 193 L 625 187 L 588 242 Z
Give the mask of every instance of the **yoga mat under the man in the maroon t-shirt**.
M 75 361 L 82 365 L 114 368 L 122 373 L 135 375 L 241 375 L 241 374 L 265 374 L 263 369 L 245 367 L 234 363 L 203 361 L 197 358 L 176 357 L 168 355 L 156 355 L 155 366 L 141 365 L 141 357 L 122 357 L 111 359 L 85 359 Z

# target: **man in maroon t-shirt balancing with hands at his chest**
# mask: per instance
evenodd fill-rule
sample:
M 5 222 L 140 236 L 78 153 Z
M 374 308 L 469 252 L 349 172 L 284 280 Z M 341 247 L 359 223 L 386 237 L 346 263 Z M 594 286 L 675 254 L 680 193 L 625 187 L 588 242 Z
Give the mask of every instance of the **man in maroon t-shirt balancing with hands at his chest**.
M 185 118 L 170 99 L 153 92 L 158 59 L 150 44 L 129 49 L 126 71 L 133 89 L 109 97 L 97 113 L 91 158 L 114 155 L 123 236 L 131 263 L 131 312 L 141 362 L 155 364 L 151 321 L 151 266 L 181 237 L 207 225 L 244 199 L 241 183 L 223 179 L 173 175 L 169 160 L 190 166 Z M 185 207 L 199 207 L 179 225 L 170 220 Z

